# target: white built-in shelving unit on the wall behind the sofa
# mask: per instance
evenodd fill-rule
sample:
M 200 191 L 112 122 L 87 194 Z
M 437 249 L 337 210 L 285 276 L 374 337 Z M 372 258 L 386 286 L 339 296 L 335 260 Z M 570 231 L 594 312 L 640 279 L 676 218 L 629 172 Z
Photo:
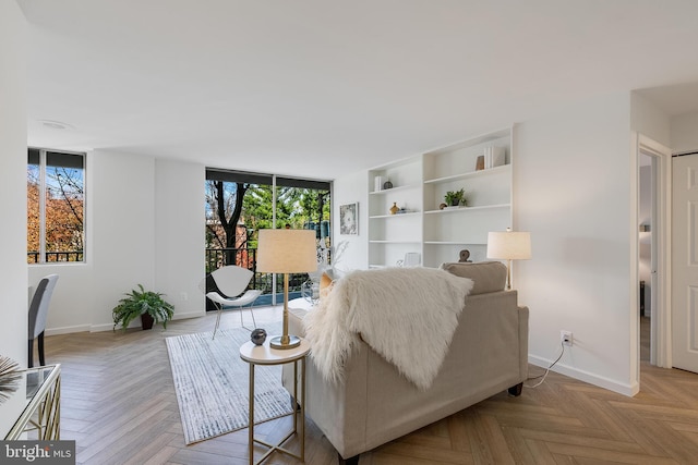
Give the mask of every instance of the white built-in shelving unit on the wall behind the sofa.
M 488 232 L 512 227 L 512 146 L 509 127 L 369 170 L 369 266 L 395 266 L 413 252 L 437 267 L 464 248 L 485 259 Z M 488 147 L 503 149 L 504 164 L 476 170 Z M 465 207 L 440 208 L 460 188 Z M 392 215 L 394 204 L 402 211 Z

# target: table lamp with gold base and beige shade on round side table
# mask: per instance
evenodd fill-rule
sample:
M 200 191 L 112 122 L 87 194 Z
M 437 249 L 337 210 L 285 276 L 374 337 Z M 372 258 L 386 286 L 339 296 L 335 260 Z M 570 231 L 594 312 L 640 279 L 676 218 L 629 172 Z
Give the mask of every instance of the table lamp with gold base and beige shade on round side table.
M 312 230 L 260 230 L 257 271 L 284 273 L 284 333 L 272 338 L 272 348 L 293 348 L 301 343 L 288 333 L 288 274 L 315 271 L 316 247 Z

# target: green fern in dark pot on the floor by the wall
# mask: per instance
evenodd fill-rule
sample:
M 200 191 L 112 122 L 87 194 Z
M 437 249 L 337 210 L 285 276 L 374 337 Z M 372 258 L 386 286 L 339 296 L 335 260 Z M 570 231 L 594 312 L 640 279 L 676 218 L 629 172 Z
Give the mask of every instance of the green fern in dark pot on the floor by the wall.
M 119 305 L 113 307 L 111 316 L 113 317 L 113 329 L 121 325 L 123 330 L 136 317 L 141 316 L 143 329 L 152 329 L 154 322 L 163 322 L 163 328 L 167 329 L 167 322 L 174 315 L 174 307 L 163 298 L 157 292 L 146 291 L 142 284 L 139 290 L 133 290 L 125 294 L 125 297 L 119 301 Z

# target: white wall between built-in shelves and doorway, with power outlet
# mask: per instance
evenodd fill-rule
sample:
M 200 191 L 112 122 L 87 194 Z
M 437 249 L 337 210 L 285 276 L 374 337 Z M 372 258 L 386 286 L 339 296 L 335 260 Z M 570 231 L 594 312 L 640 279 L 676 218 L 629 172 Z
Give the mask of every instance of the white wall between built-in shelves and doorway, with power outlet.
M 517 125 L 514 197 L 515 224 L 532 241 L 533 258 L 516 264 L 515 278 L 531 310 L 530 362 L 547 366 L 559 354 L 559 331 L 573 331 L 575 344 L 555 369 L 631 395 L 629 100 L 603 96 Z

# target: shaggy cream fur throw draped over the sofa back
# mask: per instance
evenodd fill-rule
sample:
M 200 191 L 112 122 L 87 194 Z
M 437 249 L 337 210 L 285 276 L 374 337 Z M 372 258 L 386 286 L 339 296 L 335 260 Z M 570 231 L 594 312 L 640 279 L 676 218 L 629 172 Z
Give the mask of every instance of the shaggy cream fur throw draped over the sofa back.
M 448 352 L 472 280 L 435 268 L 353 271 L 303 319 L 311 357 L 340 381 L 360 339 L 419 389 L 426 390 Z

